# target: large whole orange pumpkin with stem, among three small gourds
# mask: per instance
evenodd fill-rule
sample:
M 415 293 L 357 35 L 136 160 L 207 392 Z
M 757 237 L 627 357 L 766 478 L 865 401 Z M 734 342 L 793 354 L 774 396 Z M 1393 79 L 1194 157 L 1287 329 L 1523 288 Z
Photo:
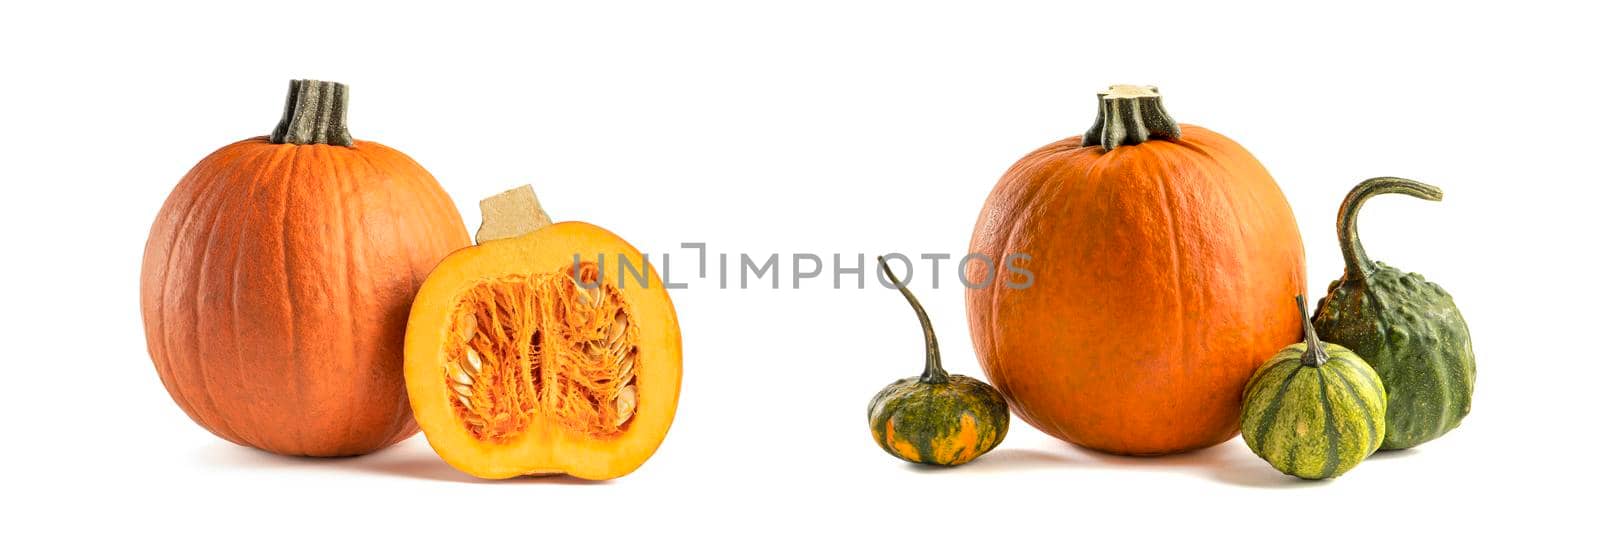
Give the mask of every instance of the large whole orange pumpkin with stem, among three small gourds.
M 968 261 L 978 360 L 1029 424 L 1123 455 L 1238 432 L 1250 375 L 1299 341 L 1283 306 L 1304 250 L 1250 152 L 1178 125 L 1154 88 L 1114 86 L 1083 136 L 1022 157 L 990 192 Z M 1011 283 L 1005 283 L 1011 282 Z

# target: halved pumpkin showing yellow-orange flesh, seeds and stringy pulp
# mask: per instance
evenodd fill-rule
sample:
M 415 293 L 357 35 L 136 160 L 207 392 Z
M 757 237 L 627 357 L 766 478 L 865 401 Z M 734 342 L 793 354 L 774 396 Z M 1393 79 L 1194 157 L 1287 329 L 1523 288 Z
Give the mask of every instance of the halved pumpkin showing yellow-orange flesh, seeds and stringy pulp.
M 486 479 L 632 472 L 666 437 L 683 375 L 661 279 L 602 227 L 550 224 L 531 187 L 480 206 L 477 245 L 429 274 L 406 327 L 429 445 Z

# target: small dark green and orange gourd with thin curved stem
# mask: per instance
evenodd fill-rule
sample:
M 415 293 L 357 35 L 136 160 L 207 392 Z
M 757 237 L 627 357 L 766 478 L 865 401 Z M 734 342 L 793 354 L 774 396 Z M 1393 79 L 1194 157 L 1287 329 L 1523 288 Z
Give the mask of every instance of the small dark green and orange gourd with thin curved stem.
M 944 371 L 928 312 L 883 258 L 878 266 L 917 312 L 928 354 L 922 376 L 894 381 L 872 397 L 872 439 L 896 458 L 938 466 L 965 464 L 994 450 L 1011 421 L 1005 397 L 982 381 Z

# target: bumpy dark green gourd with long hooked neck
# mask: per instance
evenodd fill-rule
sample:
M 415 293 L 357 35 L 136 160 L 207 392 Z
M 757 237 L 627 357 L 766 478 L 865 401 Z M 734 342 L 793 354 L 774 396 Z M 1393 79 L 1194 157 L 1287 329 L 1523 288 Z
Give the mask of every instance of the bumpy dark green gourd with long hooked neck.
M 1389 389 L 1384 450 L 1438 439 L 1472 411 L 1478 367 L 1472 335 L 1454 298 L 1421 274 L 1373 261 L 1355 232 L 1366 198 L 1405 194 L 1442 200 L 1438 187 L 1402 178 L 1360 182 L 1339 206 L 1344 277 L 1317 304 L 1315 327 L 1328 343 L 1362 354 Z

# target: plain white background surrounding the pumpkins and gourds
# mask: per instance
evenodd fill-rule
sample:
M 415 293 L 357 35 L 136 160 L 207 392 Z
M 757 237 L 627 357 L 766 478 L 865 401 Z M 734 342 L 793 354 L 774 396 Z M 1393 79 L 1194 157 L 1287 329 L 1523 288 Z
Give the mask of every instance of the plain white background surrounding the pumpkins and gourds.
M 1499 5 L 11 3 L 0 507 L 13 530 L 1592 527 L 1595 16 Z M 267 133 L 294 77 L 349 83 L 354 134 L 426 165 L 469 227 L 477 198 L 533 182 L 557 219 L 645 251 L 786 259 L 960 256 L 1011 162 L 1083 131 L 1104 85 L 1160 85 L 1181 122 L 1277 176 L 1314 295 L 1339 275 L 1333 214 L 1352 184 L 1446 190 L 1370 202 L 1363 237 L 1454 293 L 1474 411 L 1318 483 L 1237 439 L 1131 459 L 1019 421 L 979 461 L 930 471 L 877 450 L 866 424 L 878 387 L 922 370 L 898 295 L 691 282 L 672 295 L 677 421 L 624 479 L 480 482 L 421 435 L 358 459 L 238 448 L 162 389 L 139 258 L 173 184 Z M 946 272 L 939 290 L 912 285 L 947 367 L 981 375 Z

